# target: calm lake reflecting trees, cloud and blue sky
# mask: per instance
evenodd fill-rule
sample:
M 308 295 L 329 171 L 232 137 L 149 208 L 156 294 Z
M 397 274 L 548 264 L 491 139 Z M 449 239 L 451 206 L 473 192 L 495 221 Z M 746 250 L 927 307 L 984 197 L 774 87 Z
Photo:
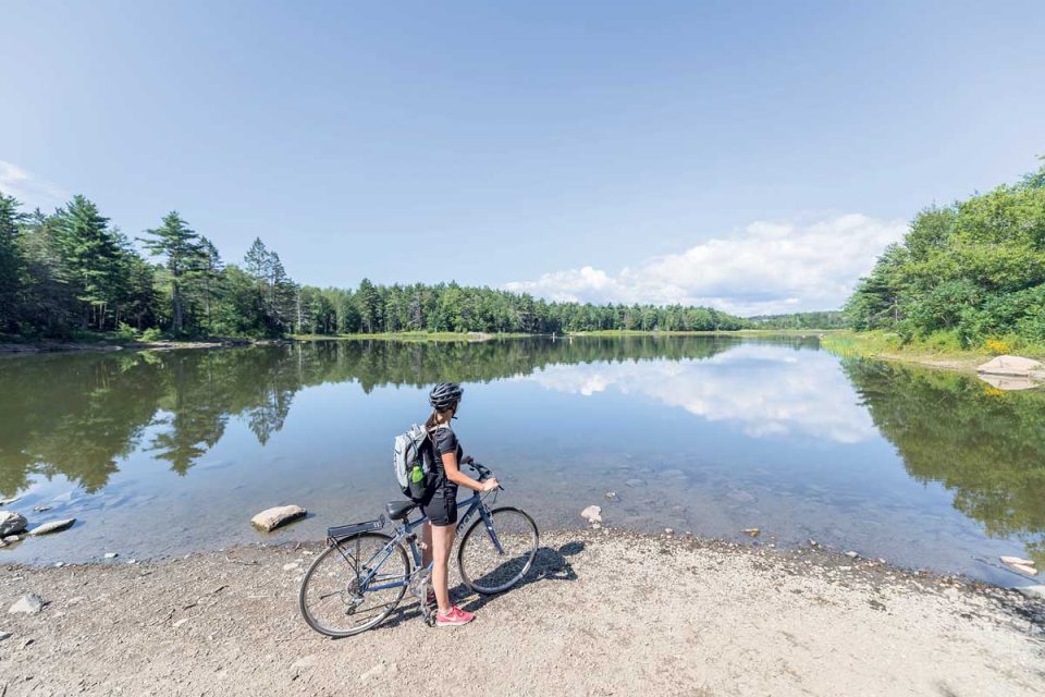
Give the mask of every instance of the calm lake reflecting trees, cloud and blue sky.
M 330 341 L 0 359 L 0 494 L 71 530 L 48 563 L 321 539 L 401 494 L 392 439 L 465 383 L 456 431 L 542 527 L 692 530 L 1018 585 L 1045 566 L 1045 393 L 841 360 L 815 339 Z M 606 492 L 617 493 L 607 500 Z M 250 516 L 298 503 L 271 536 Z M 36 512 L 35 506 L 50 506 Z M 773 536 L 773 537 L 771 537 Z

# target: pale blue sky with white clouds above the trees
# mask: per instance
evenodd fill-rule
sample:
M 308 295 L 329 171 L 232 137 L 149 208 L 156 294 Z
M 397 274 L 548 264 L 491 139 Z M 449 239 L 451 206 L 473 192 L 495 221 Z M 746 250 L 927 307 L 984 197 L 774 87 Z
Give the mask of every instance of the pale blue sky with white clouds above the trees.
M 0 189 L 298 281 L 837 306 L 1045 154 L 1040 2 L 16 2 Z

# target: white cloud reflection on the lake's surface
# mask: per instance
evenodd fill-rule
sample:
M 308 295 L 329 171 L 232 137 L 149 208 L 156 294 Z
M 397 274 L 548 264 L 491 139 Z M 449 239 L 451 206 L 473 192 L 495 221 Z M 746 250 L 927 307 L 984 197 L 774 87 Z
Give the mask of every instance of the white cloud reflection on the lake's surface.
M 519 381 L 595 396 L 611 389 L 735 424 L 752 438 L 807 435 L 858 443 L 877 430 L 827 354 L 745 343 L 710 359 L 553 365 Z

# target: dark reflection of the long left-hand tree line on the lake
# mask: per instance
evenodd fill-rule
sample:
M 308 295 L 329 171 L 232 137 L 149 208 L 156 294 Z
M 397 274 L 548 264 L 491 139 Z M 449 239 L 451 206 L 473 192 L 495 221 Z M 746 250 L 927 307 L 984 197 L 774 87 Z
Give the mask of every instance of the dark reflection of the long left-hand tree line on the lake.
M 809 346 L 809 341 L 787 340 Z M 649 337 L 506 342 L 316 342 L 220 351 L 8 357 L 0 360 L 0 492 L 33 475 L 104 487 L 138 447 L 185 474 L 244 418 L 265 444 L 295 393 L 323 383 L 420 387 L 487 382 L 556 364 L 708 358 L 732 338 Z M 152 433 L 142 442 L 146 429 Z

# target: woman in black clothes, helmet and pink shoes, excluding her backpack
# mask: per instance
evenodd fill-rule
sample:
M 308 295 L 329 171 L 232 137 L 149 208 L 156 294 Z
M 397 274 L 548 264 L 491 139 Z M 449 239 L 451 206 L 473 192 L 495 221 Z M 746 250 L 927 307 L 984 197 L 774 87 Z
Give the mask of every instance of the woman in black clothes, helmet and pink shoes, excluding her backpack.
M 423 563 L 434 561 L 432 565 L 432 587 L 434 600 L 439 606 L 435 613 L 435 626 L 447 627 L 468 624 L 475 619 L 470 612 L 450 603 L 450 551 L 454 546 L 457 524 L 457 487 L 463 486 L 475 491 L 493 491 L 497 488 L 495 478 L 477 481 L 458 468 L 468 464 L 471 457 L 463 457 L 460 443 L 450 426 L 457 418 L 464 389 L 455 382 L 440 382 L 428 395 L 432 405 L 432 415 L 425 427 L 431 435 L 434 450 L 435 486 L 421 501 L 421 511 L 428 516 L 425 524 Z M 431 594 L 428 598 L 431 602 Z

